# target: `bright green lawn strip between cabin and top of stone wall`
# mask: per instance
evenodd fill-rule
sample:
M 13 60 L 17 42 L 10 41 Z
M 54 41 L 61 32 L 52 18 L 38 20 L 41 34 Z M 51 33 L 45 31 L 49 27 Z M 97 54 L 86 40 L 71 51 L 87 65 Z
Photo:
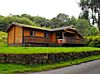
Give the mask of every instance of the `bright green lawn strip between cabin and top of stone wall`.
M 100 50 L 94 47 L 0 47 L 0 53 L 34 54 L 60 52 L 86 52 Z

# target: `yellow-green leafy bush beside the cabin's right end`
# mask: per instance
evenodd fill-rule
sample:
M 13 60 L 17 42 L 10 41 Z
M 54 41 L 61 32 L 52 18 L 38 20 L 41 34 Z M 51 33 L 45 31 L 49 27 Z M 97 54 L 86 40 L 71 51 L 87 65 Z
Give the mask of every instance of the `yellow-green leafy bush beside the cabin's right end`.
M 100 47 L 100 36 L 86 37 L 86 45 L 92 47 Z

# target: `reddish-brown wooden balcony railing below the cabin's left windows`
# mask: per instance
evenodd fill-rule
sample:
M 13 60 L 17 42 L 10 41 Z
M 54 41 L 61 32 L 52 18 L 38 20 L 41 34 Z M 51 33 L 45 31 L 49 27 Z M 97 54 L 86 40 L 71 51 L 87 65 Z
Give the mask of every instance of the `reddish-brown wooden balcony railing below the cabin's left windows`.
M 34 37 L 34 36 L 25 36 L 24 42 L 25 43 L 49 43 L 49 38 L 45 37 Z

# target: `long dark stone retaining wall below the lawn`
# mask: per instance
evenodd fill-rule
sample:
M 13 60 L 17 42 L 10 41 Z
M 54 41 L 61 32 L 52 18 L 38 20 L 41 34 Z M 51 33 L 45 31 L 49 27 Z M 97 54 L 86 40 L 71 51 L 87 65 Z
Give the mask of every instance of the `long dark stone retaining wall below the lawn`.
M 0 54 L 0 63 L 14 64 L 52 64 L 69 61 L 91 55 L 100 55 L 100 51 L 72 52 L 72 53 L 41 53 L 41 54 Z

